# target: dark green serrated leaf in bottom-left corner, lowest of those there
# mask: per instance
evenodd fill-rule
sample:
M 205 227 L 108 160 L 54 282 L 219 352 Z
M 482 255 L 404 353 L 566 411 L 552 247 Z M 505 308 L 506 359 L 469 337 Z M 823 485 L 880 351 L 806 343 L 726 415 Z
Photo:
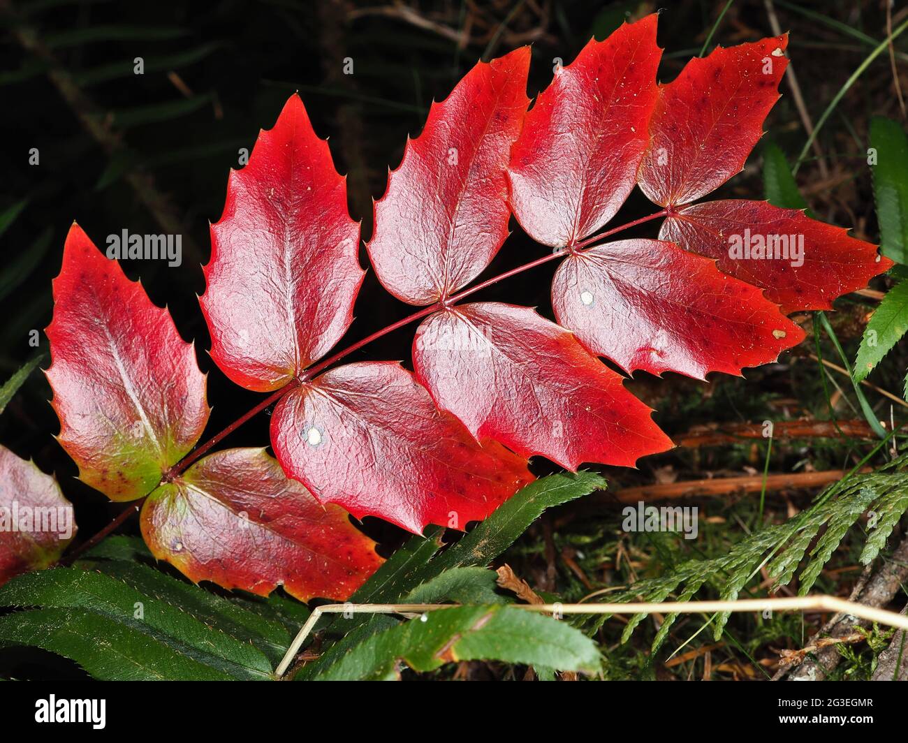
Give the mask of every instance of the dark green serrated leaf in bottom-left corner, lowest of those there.
M 94 679 L 230 680 L 146 632 L 85 609 L 34 609 L 0 617 L 0 641 L 50 650 Z

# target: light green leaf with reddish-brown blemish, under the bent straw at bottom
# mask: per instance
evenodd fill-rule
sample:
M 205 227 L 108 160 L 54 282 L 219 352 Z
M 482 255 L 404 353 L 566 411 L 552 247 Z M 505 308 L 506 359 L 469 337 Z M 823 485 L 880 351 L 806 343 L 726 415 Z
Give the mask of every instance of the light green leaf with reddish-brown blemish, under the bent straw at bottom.
M 397 665 L 430 671 L 459 660 L 501 660 L 597 673 L 596 644 L 556 619 L 515 607 L 458 607 L 427 612 L 372 635 L 318 680 L 394 679 Z

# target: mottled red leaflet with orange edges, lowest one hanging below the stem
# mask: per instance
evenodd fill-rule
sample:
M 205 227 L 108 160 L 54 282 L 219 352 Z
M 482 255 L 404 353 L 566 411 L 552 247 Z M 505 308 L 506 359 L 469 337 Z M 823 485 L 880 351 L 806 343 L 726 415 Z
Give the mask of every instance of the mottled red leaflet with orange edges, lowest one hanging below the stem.
M 142 534 L 190 580 L 301 601 L 345 600 L 379 567 L 375 542 L 288 480 L 263 449 L 218 451 L 149 496 Z

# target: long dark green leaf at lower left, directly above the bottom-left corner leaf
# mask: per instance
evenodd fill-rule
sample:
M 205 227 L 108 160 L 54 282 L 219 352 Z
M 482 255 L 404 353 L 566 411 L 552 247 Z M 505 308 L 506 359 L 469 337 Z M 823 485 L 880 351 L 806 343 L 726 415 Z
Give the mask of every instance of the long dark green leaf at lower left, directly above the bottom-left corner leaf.
M 171 604 L 104 573 L 74 568 L 25 573 L 0 588 L 0 606 L 92 611 L 232 678 L 271 676 L 271 661 L 248 641 L 196 619 L 182 603 Z

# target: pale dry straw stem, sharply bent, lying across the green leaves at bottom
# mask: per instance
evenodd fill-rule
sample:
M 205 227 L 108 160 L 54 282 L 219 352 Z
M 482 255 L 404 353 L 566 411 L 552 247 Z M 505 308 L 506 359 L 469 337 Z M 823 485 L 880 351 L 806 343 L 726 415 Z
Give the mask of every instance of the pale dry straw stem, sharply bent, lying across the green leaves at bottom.
M 322 614 L 402 614 L 415 616 L 426 611 L 451 609 L 456 604 L 327 604 L 314 609 L 275 670 L 280 679 L 311 634 Z M 886 609 L 864 606 L 836 596 L 797 596 L 783 599 L 740 599 L 737 601 L 663 601 L 621 604 L 514 604 L 518 609 L 539 614 L 668 614 L 713 613 L 719 611 L 832 611 L 889 627 L 908 629 L 908 617 Z

